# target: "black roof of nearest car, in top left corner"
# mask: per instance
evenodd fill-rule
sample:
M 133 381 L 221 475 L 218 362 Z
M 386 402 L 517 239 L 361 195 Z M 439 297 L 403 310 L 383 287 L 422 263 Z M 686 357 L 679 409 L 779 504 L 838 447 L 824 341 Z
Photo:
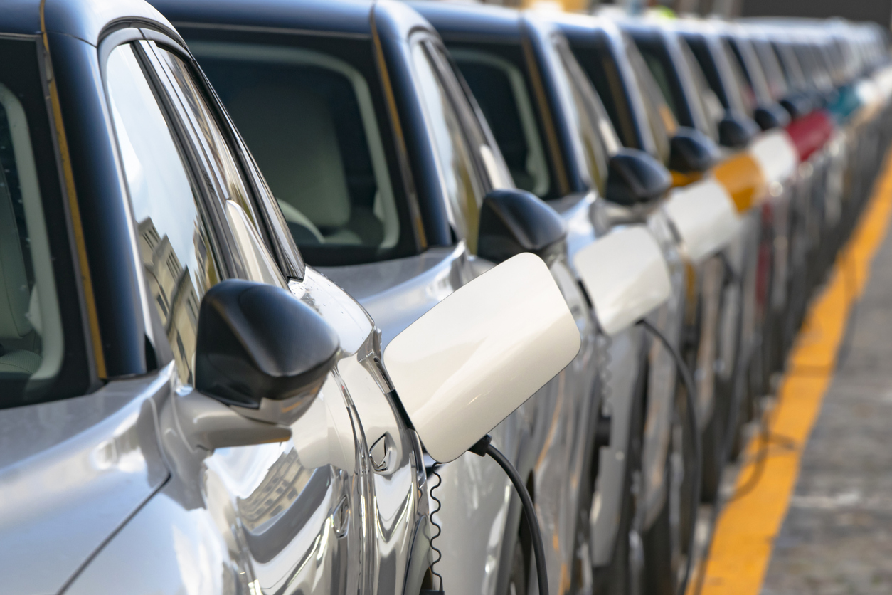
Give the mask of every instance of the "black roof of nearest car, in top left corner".
M 40 0 L 3 0 L 0 34 L 42 33 L 40 5 Z M 77 37 L 92 45 L 99 43 L 103 29 L 113 21 L 153 22 L 173 33 L 161 12 L 143 0 L 45 0 L 44 17 L 46 31 Z

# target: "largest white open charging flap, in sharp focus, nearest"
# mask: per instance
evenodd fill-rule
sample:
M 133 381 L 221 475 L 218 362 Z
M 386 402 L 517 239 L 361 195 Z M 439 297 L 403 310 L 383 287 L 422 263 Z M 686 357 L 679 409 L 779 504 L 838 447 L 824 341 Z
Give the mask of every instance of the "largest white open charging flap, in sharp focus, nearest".
M 427 453 L 445 463 L 566 368 L 580 344 L 548 266 L 522 253 L 396 335 L 384 368 Z

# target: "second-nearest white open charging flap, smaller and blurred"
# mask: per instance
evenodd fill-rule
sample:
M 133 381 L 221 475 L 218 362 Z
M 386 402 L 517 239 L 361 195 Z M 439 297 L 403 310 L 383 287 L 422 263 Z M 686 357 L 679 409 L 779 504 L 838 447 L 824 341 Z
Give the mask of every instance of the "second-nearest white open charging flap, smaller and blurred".
M 576 252 L 573 264 L 607 335 L 644 318 L 672 292 L 663 251 L 643 225 L 615 228 Z

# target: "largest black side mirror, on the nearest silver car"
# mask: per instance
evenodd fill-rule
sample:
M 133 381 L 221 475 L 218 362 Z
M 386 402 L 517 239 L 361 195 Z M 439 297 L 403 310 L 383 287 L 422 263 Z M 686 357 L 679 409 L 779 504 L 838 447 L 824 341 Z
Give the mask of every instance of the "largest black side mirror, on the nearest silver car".
M 194 384 L 218 401 L 248 409 L 260 409 L 263 399 L 311 398 L 338 352 L 335 330 L 291 293 L 230 279 L 202 299 Z

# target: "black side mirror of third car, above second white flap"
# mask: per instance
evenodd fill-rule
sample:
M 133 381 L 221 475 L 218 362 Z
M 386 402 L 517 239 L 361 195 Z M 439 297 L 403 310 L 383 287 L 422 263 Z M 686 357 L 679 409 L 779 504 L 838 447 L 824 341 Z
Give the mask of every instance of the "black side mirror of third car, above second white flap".
M 620 149 L 607 164 L 604 198 L 632 206 L 656 200 L 672 187 L 672 174 L 662 163 L 638 149 Z

